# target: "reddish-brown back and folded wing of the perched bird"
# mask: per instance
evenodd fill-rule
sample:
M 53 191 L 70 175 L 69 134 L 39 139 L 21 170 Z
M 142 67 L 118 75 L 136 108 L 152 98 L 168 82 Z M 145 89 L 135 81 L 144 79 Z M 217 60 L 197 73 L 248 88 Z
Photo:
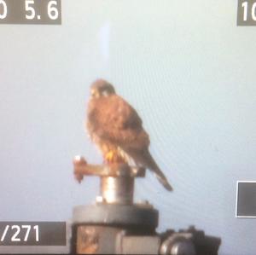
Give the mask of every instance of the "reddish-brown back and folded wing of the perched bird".
M 148 148 L 149 138 L 136 110 L 117 95 L 92 99 L 88 112 L 90 133 L 119 148 Z

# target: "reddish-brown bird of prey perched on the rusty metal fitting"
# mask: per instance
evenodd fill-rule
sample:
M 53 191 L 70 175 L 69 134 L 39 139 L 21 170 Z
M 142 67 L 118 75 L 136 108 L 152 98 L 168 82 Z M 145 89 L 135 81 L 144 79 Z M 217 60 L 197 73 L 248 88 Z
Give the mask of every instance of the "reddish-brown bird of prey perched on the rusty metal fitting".
M 87 130 L 108 163 L 132 161 L 153 171 L 160 183 L 172 190 L 148 151 L 149 137 L 142 119 L 106 80 L 97 79 L 90 86 Z

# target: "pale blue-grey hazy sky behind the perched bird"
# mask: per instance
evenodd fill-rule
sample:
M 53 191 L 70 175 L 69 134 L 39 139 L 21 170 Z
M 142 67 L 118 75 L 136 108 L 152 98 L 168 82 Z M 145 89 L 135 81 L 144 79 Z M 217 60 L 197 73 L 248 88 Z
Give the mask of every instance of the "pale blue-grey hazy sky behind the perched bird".
M 236 181 L 255 180 L 256 28 L 237 3 L 67 1 L 61 26 L 1 25 L 0 220 L 66 221 L 90 204 L 73 157 L 102 156 L 84 132 L 90 83 L 105 78 L 141 115 L 150 151 L 174 187 L 148 172 L 136 199 L 159 231 L 194 224 L 219 254 L 255 254 L 254 219 L 236 218 Z

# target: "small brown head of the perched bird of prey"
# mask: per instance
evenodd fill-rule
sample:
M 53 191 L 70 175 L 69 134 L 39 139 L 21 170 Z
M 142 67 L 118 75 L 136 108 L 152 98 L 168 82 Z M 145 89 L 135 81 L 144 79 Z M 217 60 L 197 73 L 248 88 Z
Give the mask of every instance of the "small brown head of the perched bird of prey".
M 91 98 L 99 98 L 102 96 L 111 96 L 115 94 L 115 90 L 112 84 L 109 84 L 104 79 L 97 79 L 93 84 L 90 86 L 90 96 Z

